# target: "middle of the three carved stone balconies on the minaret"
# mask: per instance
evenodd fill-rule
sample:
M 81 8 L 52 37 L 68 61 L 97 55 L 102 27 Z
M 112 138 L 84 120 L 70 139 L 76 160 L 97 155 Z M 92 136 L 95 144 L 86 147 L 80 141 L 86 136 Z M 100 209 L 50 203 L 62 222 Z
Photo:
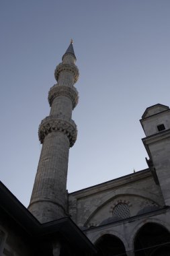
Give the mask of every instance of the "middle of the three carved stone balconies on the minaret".
M 54 84 L 54 86 L 52 86 L 52 88 L 50 88 L 50 91 L 48 92 L 48 102 L 50 106 L 52 105 L 52 101 L 54 100 L 54 98 L 58 96 L 69 97 L 73 102 L 73 109 L 79 101 L 79 94 L 75 87 L 58 86 L 57 84 Z

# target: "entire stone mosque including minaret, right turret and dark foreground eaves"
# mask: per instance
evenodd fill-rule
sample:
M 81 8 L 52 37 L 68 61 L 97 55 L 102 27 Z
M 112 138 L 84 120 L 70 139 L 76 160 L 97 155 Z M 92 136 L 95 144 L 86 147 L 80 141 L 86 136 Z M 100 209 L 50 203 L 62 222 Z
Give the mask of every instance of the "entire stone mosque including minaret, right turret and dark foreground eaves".
M 68 193 L 75 62 L 71 42 L 54 71 L 50 115 L 38 129 L 42 152 L 28 209 L 0 183 L 0 255 L 170 256 L 169 106 L 150 106 L 140 120 L 148 168 Z

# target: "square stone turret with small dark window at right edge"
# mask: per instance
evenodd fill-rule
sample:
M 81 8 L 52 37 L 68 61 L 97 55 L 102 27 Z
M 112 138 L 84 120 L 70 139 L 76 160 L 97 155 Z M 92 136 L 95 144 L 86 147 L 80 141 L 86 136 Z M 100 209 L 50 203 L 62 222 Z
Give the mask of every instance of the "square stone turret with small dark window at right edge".
M 156 104 L 146 108 L 140 120 L 146 137 L 142 139 L 148 165 L 157 185 L 160 185 L 165 205 L 170 205 L 170 109 Z

